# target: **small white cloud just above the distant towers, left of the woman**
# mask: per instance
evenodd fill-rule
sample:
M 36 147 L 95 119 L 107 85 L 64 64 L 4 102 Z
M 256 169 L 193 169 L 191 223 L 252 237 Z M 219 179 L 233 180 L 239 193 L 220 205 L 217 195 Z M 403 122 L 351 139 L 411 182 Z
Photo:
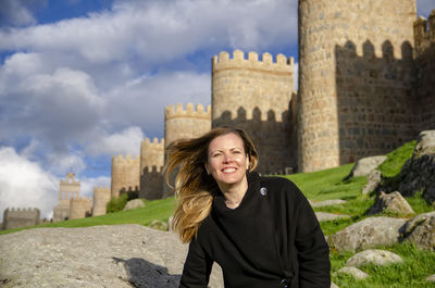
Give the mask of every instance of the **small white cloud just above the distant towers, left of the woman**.
M 136 155 L 140 152 L 140 142 L 142 139 L 144 133 L 139 127 L 128 127 L 120 133 L 96 139 L 88 145 L 87 151 L 95 155 Z

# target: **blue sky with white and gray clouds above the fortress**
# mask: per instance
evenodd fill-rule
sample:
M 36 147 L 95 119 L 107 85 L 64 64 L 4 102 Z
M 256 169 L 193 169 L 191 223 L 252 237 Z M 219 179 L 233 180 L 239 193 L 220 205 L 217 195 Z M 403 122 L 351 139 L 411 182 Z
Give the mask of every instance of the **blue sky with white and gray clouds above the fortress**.
M 82 196 L 109 187 L 113 155 L 163 138 L 166 105 L 210 104 L 213 55 L 297 64 L 297 0 L 0 0 L 0 222 L 51 217 L 69 172 Z

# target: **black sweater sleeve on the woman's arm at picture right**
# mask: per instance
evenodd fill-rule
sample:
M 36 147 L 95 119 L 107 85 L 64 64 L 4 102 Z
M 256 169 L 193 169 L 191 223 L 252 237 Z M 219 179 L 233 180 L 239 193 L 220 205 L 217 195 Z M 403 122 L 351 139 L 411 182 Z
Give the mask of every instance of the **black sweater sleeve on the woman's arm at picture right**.
M 300 288 L 330 288 L 330 247 L 318 218 L 300 192 L 295 245 L 299 263 Z

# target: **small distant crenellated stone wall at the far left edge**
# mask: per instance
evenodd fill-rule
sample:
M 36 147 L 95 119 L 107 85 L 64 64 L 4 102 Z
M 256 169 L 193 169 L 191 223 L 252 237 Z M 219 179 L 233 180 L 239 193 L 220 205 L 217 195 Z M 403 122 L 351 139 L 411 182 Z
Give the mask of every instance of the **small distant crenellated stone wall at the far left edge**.
M 14 229 L 26 226 L 35 226 L 40 222 L 39 209 L 7 209 L 3 212 L 2 229 Z

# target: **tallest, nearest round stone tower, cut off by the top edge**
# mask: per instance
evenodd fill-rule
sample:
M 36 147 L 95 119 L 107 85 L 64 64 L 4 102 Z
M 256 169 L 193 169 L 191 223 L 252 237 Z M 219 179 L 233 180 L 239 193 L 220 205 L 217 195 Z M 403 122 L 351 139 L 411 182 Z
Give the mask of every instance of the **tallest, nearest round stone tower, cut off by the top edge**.
M 299 167 L 334 167 L 417 137 L 415 0 L 299 0 Z

